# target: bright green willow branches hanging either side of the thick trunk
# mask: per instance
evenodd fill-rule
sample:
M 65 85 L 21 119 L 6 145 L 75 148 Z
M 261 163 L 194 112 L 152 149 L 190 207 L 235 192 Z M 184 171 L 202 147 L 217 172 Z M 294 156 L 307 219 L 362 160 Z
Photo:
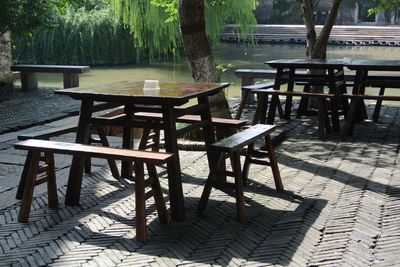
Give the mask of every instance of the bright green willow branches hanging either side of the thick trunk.
M 256 0 L 206 0 L 205 17 L 209 41 L 216 44 L 227 22 L 238 23 L 241 34 L 251 31 L 256 23 L 252 11 Z M 177 0 L 112 0 L 115 14 L 127 25 L 137 48 L 150 59 L 177 55 L 182 48 Z M 239 37 L 239 36 L 238 36 Z

